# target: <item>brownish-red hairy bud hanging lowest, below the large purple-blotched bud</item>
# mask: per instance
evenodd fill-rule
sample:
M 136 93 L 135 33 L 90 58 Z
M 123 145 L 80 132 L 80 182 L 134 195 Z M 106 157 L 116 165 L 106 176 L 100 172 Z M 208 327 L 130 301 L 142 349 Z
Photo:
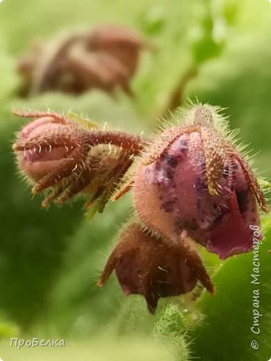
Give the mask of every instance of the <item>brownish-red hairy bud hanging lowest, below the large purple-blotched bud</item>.
M 155 312 L 160 297 L 190 292 L 197 279 L 213 292 L 204 267 L 200 271 L 195 267 L 198 261 L 201 264 L 195 246 L 186 243 L 174 247 L 142 230 L 136 223 L 124 228 L 119 240 L 108 258 L 98 283 L 100 286 L 115 269 L 124 294 L 145 296 L 151 313 Z

